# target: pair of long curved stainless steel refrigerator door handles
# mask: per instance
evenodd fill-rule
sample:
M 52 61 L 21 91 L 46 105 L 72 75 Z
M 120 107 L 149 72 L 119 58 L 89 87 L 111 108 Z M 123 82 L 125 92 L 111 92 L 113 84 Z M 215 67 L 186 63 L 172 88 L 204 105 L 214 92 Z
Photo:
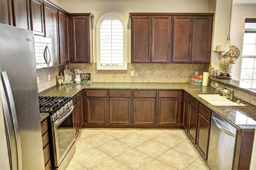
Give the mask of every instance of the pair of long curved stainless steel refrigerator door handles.
M 8 135 L 9 152 L 11 153 L 12 168 L 22 169 L 22 155 L 18 119 L 16 115 L 12 90 L 6 71 L 1 71 L 2 81 L 0 83 L 1 99 L 6 119 L 6 132 Z M 18 161 L 18 162 L 17 162 Z

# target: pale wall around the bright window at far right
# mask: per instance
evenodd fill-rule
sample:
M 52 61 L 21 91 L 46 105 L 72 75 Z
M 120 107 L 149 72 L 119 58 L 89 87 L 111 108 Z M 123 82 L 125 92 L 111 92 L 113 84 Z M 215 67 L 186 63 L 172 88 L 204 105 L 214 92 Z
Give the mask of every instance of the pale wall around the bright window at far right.
M 236 60 L 236 64 L 234 65 L 234 69 L 232 72 L 232 77 L 235 80 L 240 80 L 245 18 L 256 18 L 256 4 L 233 5 L 230 39 L 232 45 L 238 47 L 241 53 L 240 57 Z

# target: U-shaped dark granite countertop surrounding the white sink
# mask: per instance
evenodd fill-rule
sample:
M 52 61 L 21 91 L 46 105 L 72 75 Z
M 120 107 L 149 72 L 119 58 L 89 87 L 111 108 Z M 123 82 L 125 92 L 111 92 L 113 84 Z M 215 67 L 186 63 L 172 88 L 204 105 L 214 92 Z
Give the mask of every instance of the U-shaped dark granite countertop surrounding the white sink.
M 39 96 L 73 97 L 82 89 L 141 89 L 141 90 L 184 90 L 202 105 L 214 111 L 239 131 L 254 132 L 256 125 L 256 106 L 241 101 L 246 106 L 214 106 L 198 96 L 198 94 L 220 94 L 215 88 L 189 83 L 72 83 L 56 85 L 39 93 Z

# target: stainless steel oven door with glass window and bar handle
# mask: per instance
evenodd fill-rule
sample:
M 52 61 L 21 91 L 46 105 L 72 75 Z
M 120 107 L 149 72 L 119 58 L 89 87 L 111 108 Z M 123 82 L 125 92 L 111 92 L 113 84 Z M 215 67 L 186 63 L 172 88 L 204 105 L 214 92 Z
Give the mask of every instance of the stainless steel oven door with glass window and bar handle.
M 69 116 L 73 117 L 74 106 L 71 106 L 63 115 L 55 122 L 52 122 L 52 137 L 54 145 L 54 162 L 55 166 L 59 167 L 62 160 L 75 142 L 74 126 L 65 127 L 62 123 L 68 119 Z

